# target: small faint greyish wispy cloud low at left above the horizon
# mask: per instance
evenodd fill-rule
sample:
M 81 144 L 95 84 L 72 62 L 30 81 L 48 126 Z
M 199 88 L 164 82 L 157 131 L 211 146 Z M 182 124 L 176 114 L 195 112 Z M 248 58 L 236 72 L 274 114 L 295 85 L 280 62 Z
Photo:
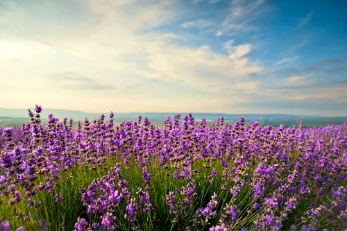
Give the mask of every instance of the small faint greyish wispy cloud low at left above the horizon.
M 93 78 L 78 75 L 73 72 L 56 73 L 49 76 L 51 80 L 57 82 L 63 89 L 91 89 L 106 90 L 115 89 L 113 85 L 101 84 Z

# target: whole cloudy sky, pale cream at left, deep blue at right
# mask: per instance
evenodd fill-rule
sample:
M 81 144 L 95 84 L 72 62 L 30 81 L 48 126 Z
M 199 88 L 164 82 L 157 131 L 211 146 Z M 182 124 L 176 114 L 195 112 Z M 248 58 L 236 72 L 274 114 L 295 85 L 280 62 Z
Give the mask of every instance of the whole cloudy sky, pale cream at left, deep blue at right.
M 1 0 L 0 108 L 346 116 L 346 9 Z

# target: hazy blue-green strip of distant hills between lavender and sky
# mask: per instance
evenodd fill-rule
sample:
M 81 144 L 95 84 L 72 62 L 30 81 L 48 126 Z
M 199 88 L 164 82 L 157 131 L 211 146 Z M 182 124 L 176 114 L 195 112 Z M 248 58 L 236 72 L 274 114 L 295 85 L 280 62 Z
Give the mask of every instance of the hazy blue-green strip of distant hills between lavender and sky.
M 86 117 L 90 120 L 100 117 L 101 113 L 90 113 L 75 110 L 59 110 L 59 109 L 44 109 L 42 112 L 42 122 L 46 122 L 46 118 L 49 114 L 53 114 L 55 117 L 62 119 L 64 117 L 73 118 L 74 121 L 83 121 Z M 104 113 L 106 118 L 108 118 L 110 112 Z M 171 119 L 174 118 L 174 112 L 146 112 L 146 113 L 115 113 L 115 121 L 126 121 L 126 120 L 136 120 L 139 115 L 142 117 L 147 117 L 151 121 L 162 125 L 162 121 L 168 116 Z M 182 117 L 184 117 L 188 112 L 180 112 Z M 214 122 L 217 119 L 223 117 L 226 122 L 235 122 L 240 117 L 244 117 L 246 122 L 251 120 L 256 120 L 260 122 L 261 125 L 272 125 L 279 126 L 284 124 L 285 126 L 296 125 L 297 119 L 303 119 L 303 126 L 325 126 L 328 123 L 333 124 L 343 124 L 347 121 L 347 117 L 320 117 L 320 116 L 307 116 L 307 115 L 293 115 L 293 114 L 226 114 L 226 113 L 192 113 L 196 121 L 201 121 L 205 118 L 210 122 Z M 0 126 L 12 126 L 15 123 L 17 126 L 21 126 L 22 123 L 26 123 L 28 119 L 28 110 L 26 109 L 9 109 L 0 108 Z

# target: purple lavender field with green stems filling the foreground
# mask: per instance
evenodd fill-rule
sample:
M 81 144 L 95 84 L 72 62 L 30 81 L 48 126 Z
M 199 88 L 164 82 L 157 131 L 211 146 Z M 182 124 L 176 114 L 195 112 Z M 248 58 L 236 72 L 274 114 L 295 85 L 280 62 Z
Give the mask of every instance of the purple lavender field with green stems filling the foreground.
M 347 123 L 164 128 L 28 110 L 1 130 L 0 230 L 345 230 Z M 78 123 L 78 130 L 73 124 Z

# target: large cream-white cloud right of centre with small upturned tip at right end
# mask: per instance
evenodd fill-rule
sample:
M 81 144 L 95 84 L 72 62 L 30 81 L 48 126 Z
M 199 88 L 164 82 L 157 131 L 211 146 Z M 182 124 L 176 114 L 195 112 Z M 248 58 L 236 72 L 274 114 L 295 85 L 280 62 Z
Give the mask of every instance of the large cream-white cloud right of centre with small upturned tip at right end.
M 229 55 L 214 53 L 208 46 L 198 49 L 174 45 L 153 46 L 149 66 L 160 78 L 183 81 L 196 89 L 211 93 L 232 90 L 238 82 L 249 80 L 262 67 L 243 58 L 251 51 L 249 44 L 226 46 Z

